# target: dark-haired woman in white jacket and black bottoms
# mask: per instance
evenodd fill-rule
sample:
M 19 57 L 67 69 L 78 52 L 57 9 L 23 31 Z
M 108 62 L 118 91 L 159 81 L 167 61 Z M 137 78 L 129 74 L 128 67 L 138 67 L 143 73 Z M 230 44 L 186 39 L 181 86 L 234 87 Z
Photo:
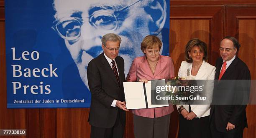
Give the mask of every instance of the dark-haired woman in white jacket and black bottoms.
M 178 76 L 187 80 L 212 80 L 205 91 L 210 98 L 213 92 L 215 67 L 207 63 L 207 45 L 198 38 L 188 41 L 185 60 L 179 68 Z M 210 99 L 209 99 L 210 100 Z M 178 138 L 209 138 L 210 102 L 205 105 L 176 105 L 179 115 Z

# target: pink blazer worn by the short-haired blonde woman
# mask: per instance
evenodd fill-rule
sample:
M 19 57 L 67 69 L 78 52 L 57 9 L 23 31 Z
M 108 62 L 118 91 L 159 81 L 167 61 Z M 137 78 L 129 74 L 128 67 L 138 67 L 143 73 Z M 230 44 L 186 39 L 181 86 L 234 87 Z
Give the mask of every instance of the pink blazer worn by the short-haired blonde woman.
M 168 79 L 174 76 L 174 65 L 172 63 L 172 58 L 164 55 L 159 55 L 159 61 L 156 65 L 156 70 L 154 75 L 152 74 L 148 62 L 146 60 L 146 55 L 142 57 L 134 58 L 129 73 L 127 75 L 126 81 L 133 82 L 139 79 L 147 80 L 159 80 Z M 168 115 L 173 112 L 173 105 L 160 108 L 148 108 L 148 109 L 134 109 L 132 113 L 138 116 L 154 118 L 154 113 L 156 113 L 156 118 Z

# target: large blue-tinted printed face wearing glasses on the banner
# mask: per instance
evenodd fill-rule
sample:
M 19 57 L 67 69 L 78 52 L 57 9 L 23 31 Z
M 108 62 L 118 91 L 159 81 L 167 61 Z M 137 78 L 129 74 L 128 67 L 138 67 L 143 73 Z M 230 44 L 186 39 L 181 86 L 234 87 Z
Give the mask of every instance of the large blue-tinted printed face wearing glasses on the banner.
M 54 0 L 56 21 L 52 28 L 64 39 L 88 87 L 87 65 L 102 53 L 102 36 L 116 33 L 123 39 L 119 54 L 127 74 L 133 58 L 142 55 L 143 38 L 162 38 L 162 29 L 169 20 L 166 6 L 166 0 Z

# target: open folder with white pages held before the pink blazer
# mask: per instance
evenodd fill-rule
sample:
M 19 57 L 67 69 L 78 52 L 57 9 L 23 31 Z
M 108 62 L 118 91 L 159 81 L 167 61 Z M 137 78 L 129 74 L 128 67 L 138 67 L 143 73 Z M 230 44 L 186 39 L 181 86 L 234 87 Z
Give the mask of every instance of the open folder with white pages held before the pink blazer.
M 165 84 L 164 80 L 163 83 Z M 123 87 L 127 109 L 146 109 L 169 106 L 167 100 L 164 105 L 151 104 L 151 81 L 148 81 L 148 83 L 124 82 Z

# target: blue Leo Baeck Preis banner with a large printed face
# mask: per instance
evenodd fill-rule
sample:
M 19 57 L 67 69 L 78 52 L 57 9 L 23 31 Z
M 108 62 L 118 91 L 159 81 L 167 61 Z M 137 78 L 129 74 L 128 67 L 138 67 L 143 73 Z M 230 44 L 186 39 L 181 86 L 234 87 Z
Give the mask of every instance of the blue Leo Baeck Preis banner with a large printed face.
M 99 43 L 105 33 L 117 33 L 123 40 L 120 56 L 126 57 L 125 75 L 133 58 L 143 55 L 139 44 L 146 35 L 159 36 L 164 45 L 161 54 L 169 55 L 169 0 L 149 4 L 126 0 L 115 8 L 102 4 L 93 9 L 86 8 L 94 1 L 85 1 L 76 5 L 75 0 L 5 0 L 8 108 L 90 107 L 87 63 L 102 53 Z M 133 9 L 138 11 L 136 15 L 132 15 Z M 97 45 L 90 46 L 89 40 Z M 72 49 L 77 47 L 79 58 Z M 83 61 L 82 69 L 77 59 Z

